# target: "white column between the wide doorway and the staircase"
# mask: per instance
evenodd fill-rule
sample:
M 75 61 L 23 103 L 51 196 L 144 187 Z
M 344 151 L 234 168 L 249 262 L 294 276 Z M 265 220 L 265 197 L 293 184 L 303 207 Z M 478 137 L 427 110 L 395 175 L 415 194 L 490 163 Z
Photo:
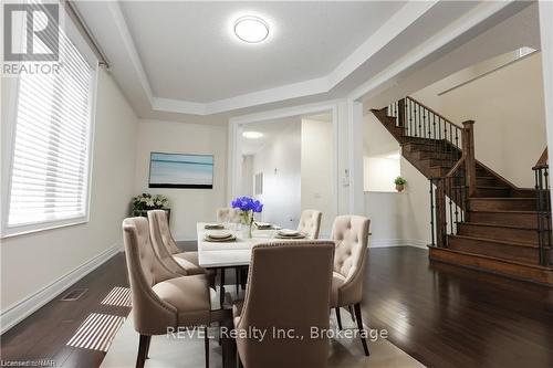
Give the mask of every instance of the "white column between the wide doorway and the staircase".
M 347 102 L 347 122 L 349 132 L 349 212 L 365 214 L 363 196 L 363 104 Z

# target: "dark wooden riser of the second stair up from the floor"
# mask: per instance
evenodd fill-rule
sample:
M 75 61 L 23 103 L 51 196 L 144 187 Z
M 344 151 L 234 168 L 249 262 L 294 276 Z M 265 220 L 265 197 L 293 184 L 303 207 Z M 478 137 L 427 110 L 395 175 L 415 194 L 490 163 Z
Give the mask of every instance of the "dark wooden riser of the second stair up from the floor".
M 518 262 L 528 262 L 535 265 L 540 264 L 540 253 L 536 248 L 509 246 L 505 244 L 459 239 L 455 236 L 449 238 L 448 246 L 456 251 L 483 254 Z

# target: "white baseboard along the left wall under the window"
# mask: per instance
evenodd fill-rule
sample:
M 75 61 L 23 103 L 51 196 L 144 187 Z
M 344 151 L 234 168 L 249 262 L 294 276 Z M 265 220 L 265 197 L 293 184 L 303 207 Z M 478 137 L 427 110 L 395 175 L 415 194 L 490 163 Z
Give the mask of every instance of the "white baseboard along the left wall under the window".
M 121 244 L 116 244 L 93 259 L 81 264 L 79 267 L 61 276 L 50 285 L 44 286 L 34 294 L 12 304 L 4 311 L 0 312 L 0 334 L 6 333 L 11 327 L 27 318 L 29 315 L 38 311 L 48 302 L 52 301 L 64 290 L 76 283 L 90 272 L 97 269 L 112 256 L 121 252 L 123 249 Z

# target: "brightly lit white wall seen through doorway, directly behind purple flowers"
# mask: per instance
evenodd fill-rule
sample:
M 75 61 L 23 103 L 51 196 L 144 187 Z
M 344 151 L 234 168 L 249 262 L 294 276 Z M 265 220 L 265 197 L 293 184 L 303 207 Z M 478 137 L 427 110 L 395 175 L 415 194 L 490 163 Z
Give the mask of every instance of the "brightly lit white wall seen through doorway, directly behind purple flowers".
M 263 172 L 261 219 L 296 228 L 301 211 L 301 122 L 290 124 L 253 156 L 253 174 Z M 275 172 L 276 170 L 276 172 Z

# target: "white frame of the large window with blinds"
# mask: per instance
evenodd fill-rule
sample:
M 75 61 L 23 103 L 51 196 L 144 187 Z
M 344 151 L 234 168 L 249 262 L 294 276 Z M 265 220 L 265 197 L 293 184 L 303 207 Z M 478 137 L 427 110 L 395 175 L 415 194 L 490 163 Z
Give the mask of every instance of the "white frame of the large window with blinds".
M 62 20 L 63 17 L 63 20 Z M 94 161 L 94 133 L 95 133 L 95 117 L 96 117 L 96 98 L 97 98 L 97 85 L 98 85 L 98 63 L 95 57 L 93 57 L 92 51 L 86 46 L 86 42 L 79 33 L 76 27 L 71 22 L 71 20 L 66 19 L 66 14 L 62 8 L 60 8 L 60 19 L 61 28 L 65 32 L 67 39 L 75 45 L 81 55 L 86 60 L 91 67 L 91 85 L 88 91 L 88 137 L 86 139 L 86 151 L 87 157 L 85 159 L 86 162 L 86 176 L 83 180 L 83 185 L 86 186 L 86 190 L 84 193 L 84 214 L 72 217 L 63 220 L 44 220 L 36 221 L 29 224 L 18 224 L 18 225 L 9 225 L 8 219 L 10 213 L 10 193 L 11 193 L 11 185 L 12 185 L 12 172 L 13 172 L 13 154 L 15 148 L 15 129 L 17 129 L 17 116 L 18 116 L 18 103 L 19 103 L 19 86 L 20 86 L 20 77 L 3 77 L 2 84 L 2 94 L 6 93 L 7 105 L 6 109 L 2 113 L 2 120 L 6 122 L 4 129 L 2 129 L 2 135 L 6 137 L 2 138 L 2 145 L 6 145 L 2 148 L 2 211 L 0 214 L 0 239 L 23 235 L 40 231 L 53 230 L 59 228 L 85 224 L 91 220 L 91 198 L 92 198 L 92 179 L 93 179 L 93 161 Z M 6 118 L 6 119 L 4 119 Z

